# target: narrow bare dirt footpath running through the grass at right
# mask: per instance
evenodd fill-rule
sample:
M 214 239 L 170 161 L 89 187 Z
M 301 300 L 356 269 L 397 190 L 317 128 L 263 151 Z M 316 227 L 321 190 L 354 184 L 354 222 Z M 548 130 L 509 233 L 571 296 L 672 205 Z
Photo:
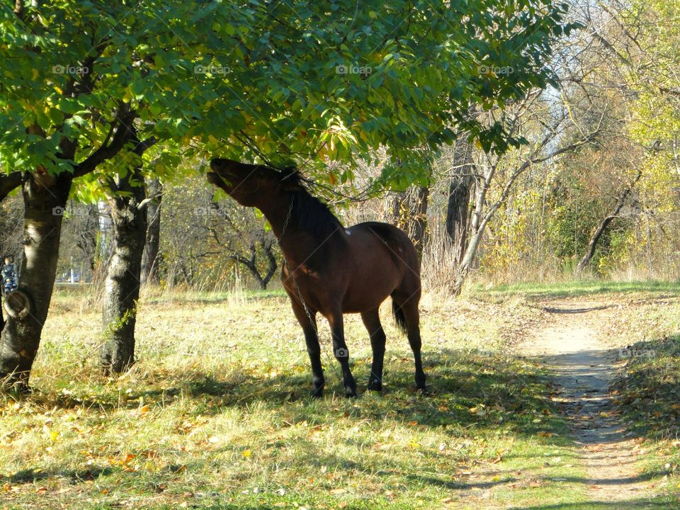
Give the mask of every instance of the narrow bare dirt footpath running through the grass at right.
M 623 502 L 647 495 L 635 466 L 636 444 L 627 436 L 611 402 L 618 346 L 598 331 L 612 310 L 597 302 L 550 302 L 553 320 L 520 349 L 538 356 L 559 374 L 559 399 L 572 436 L 582 446 L 580 462 L 588 473 L 593 501 Z

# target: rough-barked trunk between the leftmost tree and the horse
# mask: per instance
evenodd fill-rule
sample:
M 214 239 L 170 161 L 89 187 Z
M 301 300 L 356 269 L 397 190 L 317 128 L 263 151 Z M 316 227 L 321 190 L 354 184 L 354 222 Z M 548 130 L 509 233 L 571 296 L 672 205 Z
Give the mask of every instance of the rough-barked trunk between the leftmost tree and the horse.
M 139 147 L 139 145 L 138 145 Z M 138 149 L 137 155 L 141 157 Z M 140 297 L 147 210 L 141 163 L 109 183 L 113 254 L 106 273 L 103 303 L 104 343 L 100 361 L 105 375 L 128 370 L 135 362 L 135 323 Z

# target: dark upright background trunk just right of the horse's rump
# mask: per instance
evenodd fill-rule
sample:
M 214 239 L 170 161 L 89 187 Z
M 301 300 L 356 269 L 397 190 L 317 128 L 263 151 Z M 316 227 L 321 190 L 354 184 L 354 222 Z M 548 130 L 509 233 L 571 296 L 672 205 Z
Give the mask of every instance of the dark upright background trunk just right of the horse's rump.
M 456 263 L 463 261 L 470 222 L 470 198 L 475 179 L 472 175 L 472 144 L 459 139 L 453 149 L 453 177 L 448 188 L 446 233 L 453 242 Z

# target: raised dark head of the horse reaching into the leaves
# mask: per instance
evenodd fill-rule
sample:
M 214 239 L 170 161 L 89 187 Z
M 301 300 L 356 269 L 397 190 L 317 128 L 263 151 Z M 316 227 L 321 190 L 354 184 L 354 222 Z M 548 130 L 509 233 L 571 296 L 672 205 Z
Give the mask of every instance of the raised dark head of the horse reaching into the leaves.
M 281 193 L 302 188 L 297 171 L 278 171 L 264 165 L 216 158 L 210 162 L 208 182 L 219 186 L 239 204 L 258 207 L 272 203 Z

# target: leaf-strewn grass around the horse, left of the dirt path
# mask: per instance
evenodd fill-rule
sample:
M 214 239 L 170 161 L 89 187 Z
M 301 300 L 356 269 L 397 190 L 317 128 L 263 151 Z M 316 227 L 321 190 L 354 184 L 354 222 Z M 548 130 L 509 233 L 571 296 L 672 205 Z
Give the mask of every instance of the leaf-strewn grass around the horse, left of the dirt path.
M 278 291 L 148 293 L 137 364 L 103 378 L 98 306 L 59 289 L 33 396 L 0 402 L 0 509 L 603 508 L 588 502 L 551 374 L 509 353 L 540 310 L 510 294 L 426 295 L 427 397 L 382 311 L 385 390 L 341 397 L 323 328 L 327 396 L 314 400 Z M 358 317 L 346 336 L 363 389 Z

